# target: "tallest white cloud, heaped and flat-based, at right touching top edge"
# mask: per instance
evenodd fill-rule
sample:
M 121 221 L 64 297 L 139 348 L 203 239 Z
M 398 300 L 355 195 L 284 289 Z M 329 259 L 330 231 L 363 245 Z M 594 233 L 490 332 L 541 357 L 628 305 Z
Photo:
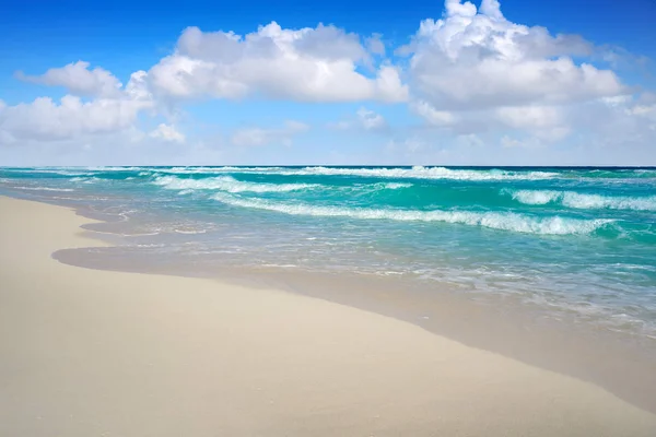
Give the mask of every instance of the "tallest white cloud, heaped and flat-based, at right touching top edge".
M 562 104 L 624 93 L 612 71 L 571 56 L 589 51 L 576 36 L 507 21 L 496 0 L 445 2 L 442 20 L 424 20 L 411 47 L 413 93 L 436 109 Z

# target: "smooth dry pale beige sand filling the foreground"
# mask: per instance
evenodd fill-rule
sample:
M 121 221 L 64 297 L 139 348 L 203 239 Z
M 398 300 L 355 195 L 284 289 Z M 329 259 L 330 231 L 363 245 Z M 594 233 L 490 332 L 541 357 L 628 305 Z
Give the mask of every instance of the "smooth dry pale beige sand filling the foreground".
M 396 319 L 51 259 L 99 245 L 87 222 L 0 198 L 2 437 L 656 436 L 596 386 Z

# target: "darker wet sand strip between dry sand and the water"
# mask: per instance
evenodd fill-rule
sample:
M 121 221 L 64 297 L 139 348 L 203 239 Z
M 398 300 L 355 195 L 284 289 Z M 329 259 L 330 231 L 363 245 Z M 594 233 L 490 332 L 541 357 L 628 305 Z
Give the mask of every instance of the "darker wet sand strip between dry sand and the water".
M 63 206 L 66 208 L 66 206 Z M 281 269 L 219 268 L 195 274 L 187 267 L 148 265 L 149 261 L 106 256 L 120 249 L 116 234 L 103 229 L 105 220 L 90 218 L 81 228 L 103 248 L 61 249 L 60 262 L 93 270 L 133 272 L 174 277 L 202 277 L 238 286 L 279 290 L 319 298 L 412 323 L 433 334 L 468 346 L 501 354 L 530 366 L 555 371 L 601 387 L 656 414 L 656 339 L 614 332 L 608 327 L 581 323 L 567 315 L 552 319 L 544 308 L 512 296 L 472 294 L 447 287 L 422 287 L 406 279 L 358 274 L 326 274 Z M 151 257 L 147 258 L 152 260 Z M 549 311 L 547 311 L 549 312 Z M 617 369 L 623 369 L 618 373 Z

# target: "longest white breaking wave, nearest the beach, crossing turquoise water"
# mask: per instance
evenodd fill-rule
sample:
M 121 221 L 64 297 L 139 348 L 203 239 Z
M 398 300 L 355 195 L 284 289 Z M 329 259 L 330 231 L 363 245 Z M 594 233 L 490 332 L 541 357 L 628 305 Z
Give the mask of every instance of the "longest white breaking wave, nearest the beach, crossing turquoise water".
M 393 209 L 366 209 L 343 206 L 318 206 L 304 203 L 282 203 L 263 199 L 245 199 L 227 193 L 212 197 L 233 206 L 276 211 L 290 215 L 326 217 L 350 217 L 362 220 L 394 220 L 419 222 L 445 222 L 526 234 L 567 235 L 589 234 L 613 222 L 612 220 L 577 220 L 560 216 L 535 218 L 516 213 L 468 212 L 468 211 L 412 211 Z

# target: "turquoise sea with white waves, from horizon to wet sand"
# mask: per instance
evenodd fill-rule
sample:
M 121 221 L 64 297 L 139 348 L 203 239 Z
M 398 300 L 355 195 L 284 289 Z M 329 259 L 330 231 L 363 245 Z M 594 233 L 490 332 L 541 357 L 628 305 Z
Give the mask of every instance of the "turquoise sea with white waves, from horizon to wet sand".
M 107 218 L 143 259 L 448 283 L 656 335 L 656 168 L 0 168 L 0 193 Z

